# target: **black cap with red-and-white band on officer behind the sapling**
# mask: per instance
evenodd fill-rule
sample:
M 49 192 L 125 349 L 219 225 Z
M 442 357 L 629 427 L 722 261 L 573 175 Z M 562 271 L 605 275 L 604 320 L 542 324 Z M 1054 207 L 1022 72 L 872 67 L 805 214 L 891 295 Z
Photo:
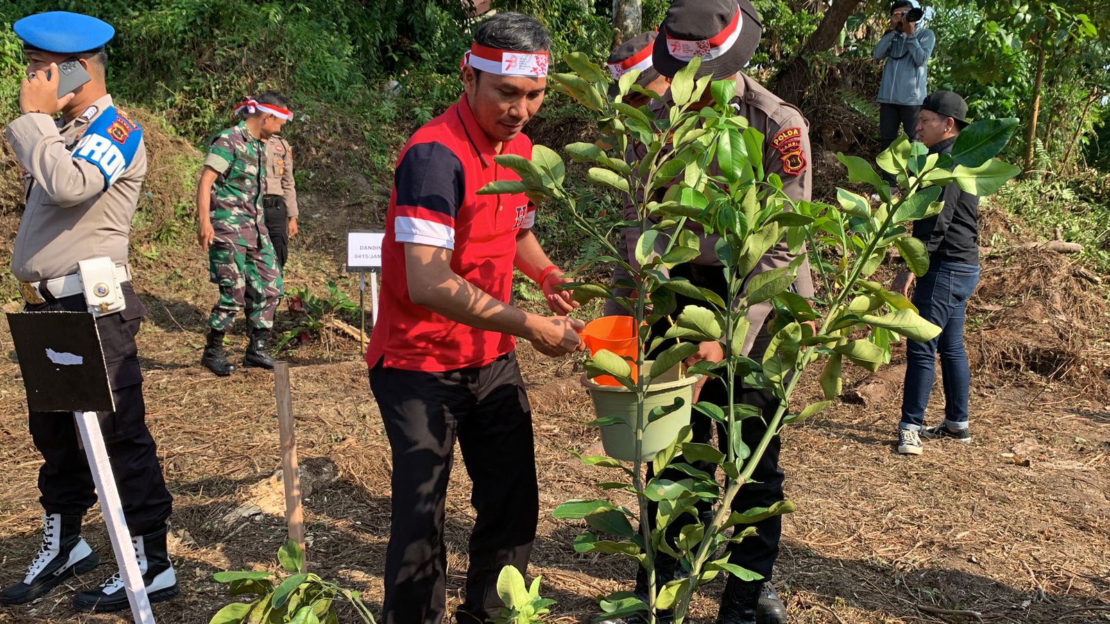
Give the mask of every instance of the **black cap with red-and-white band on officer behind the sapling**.
M 668 78 L 702 57 L 697 77 L 730 78 L 759 47 L 763 22 L 749 0 L 674 0 L 655 40 L 655 69 Z

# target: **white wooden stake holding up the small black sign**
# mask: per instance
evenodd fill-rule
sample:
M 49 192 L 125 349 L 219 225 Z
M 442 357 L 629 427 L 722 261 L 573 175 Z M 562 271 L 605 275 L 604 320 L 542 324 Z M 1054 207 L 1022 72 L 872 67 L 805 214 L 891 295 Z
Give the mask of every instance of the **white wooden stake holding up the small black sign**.
M 142 582 L 139 561 L 131 544 L 131 534 L 123 517 L 120 492 L 115 489 L 112 464 L 108 461 L 108 447 L 104 446 L 104 436 L 100 432 L 100 420 L 97 417 L 97 412 L 73 412 L 73 417 L 81 434 L 84 454 L 89 459 L 92 482 L 97 485 L 97 495 L 100 499 L 100 511 L 104 515 L 104 524 L 108 525 L 108 536 L 112 541 L 115 562 L 120 566 L 123 588 L 128 592 L 131 614 L 135 624 L 154 624 L 154 613 L 150 610 L 147 586 Z

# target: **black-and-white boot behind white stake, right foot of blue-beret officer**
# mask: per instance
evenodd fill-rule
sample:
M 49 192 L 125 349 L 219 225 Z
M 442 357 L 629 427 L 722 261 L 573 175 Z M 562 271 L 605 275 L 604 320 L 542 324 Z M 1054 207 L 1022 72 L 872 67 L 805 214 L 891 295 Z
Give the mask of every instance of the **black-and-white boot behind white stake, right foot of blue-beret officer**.
M 153 533 L 131 539 L 139 561 L 139 573 L 147 586 L 150 602 L 163 602 L 178 596 L 178 577 L 173 572 L 170 552 L 165 547 L 167 527 Z M 129 608 L 128 592 L 123 588 L 123 577 L 119 572 L 104 581 L 95 590 L 78 592 L 73 596 L 73 607 L 85 613 L 105 613 Z

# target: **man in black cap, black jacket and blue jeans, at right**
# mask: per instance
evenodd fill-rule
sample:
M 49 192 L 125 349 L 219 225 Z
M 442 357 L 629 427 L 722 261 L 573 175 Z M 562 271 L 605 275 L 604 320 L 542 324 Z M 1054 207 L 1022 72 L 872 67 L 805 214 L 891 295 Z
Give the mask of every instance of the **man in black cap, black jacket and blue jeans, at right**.
M 917 114 L 917 138 L 930 154 L 951 152 L 960 130 L 967 125 L 968 105 L 951 91 L 935 91 Z M 979 198 L 952 182 L 940 195 L 939 214 L 914 222 L 914 238 L 929 250 L 929 271 L 917 280 L 914 305 L 927 321 L 941 328 L 926 342 L 906 342 L 906 390 L 898 423 L 898 452 L 921 453 L 921 437 L 950 437 L 969 444 L 968 392 L 971 371 L 963 349 L 963 315 L 967 300 L 979 283 Z M 891 286 L 909 295 L 914 273 L 902 271 Z M 925 409 L 932 392 L 936 358 L 940 353 L 944 375 L 945 420 L 925 429 Z

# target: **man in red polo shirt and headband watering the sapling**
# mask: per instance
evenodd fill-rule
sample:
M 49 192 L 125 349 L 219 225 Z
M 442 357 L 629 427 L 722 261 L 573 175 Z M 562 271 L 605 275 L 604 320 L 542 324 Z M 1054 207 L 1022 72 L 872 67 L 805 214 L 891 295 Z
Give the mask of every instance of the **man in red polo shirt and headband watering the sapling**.
M 382 248 L 379 324 L 366 352 L 393 457 L 385 624 L 437 624 L 445 610 L 444 501 L 455 439 L 477 512 L 460 623 L 497 613 L 497 575 L 525 572 L 538 517 L 532 414 L 514 336 L 541 353 L 581 351 L 583 323 L 514 308 L 513 268 L 559 314 L 567 283 L 532 233 L 523 193 L 478 195 L 519 180 L 494 162 L 532 157 L 521 133 L 544 100 L 551 43 L 534 19 L 503 12 L 474 33 L 464 94 L 408 139 L 394 173 Z

